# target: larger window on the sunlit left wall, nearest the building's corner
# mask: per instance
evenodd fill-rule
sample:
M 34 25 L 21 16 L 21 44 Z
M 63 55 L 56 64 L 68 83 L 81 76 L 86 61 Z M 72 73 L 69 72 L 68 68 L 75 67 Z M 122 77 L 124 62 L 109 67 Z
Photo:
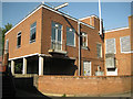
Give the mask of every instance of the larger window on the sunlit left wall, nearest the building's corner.
M 35 33 L 37 33 L 37 22 L 31 24 L 31 29 L 30 29 L 30 43 L 35 42 Z

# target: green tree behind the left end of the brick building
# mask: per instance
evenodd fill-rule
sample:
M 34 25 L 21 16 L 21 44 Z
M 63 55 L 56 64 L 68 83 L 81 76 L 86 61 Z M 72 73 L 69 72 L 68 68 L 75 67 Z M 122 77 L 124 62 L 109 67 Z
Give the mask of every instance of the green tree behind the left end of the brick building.
M 12 24 L 8 23 L 2 28 L 2 53 L 4 50 L 4 34 L 12 28 Z

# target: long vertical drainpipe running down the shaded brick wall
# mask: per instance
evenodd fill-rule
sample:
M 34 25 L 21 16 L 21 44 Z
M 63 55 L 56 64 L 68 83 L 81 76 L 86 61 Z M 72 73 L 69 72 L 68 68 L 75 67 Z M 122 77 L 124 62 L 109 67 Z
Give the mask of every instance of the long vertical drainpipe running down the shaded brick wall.
M 79 35 L 79 76 L 81 76 L 81 44 L 80 44 L 80 21 L 78 21 L 78 35 Z

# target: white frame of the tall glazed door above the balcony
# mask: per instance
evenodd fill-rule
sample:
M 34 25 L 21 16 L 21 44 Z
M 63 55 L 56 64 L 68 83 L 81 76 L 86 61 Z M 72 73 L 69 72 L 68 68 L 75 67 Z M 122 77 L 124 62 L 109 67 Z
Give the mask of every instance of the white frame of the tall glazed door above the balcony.
M 52 22 L 54 22 L 54 21 L 52 21 Z M 51 26 L 52 26 L 52 22 L 51 22 Z M 60 24 L 60 23 L 58 23 L 58 22 L 54 22 L 55 24 Z M 62 25 L 62 24 L 61 24 Z M 52 26 L 53 28 L 53 26 Z M 62 36 L 63 36 L 63 25 L 62 25 L 62 28 L 61 28 L 61 42 L 59 42 L 58 41 L 58 30 L 55 30 L 55 41 L 54 40 L 52 40 L 52 31 L 51 31 L 51 45 L 52 45 L 52 42 L 54 42 L 54 43 L 60 43 L 61 44 L 61 51 L 62 51 Z M 55 48 L 55 50 L 58 50 L 58 48 Z

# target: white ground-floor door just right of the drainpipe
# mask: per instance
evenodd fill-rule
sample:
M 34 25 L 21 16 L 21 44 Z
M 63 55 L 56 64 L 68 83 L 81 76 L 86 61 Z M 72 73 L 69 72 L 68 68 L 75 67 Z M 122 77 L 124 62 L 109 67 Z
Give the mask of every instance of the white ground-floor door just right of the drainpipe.
M 83 62 L 84 76 L 91 76 L 91 62 Z

